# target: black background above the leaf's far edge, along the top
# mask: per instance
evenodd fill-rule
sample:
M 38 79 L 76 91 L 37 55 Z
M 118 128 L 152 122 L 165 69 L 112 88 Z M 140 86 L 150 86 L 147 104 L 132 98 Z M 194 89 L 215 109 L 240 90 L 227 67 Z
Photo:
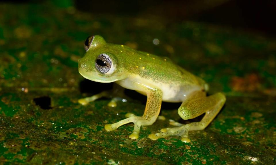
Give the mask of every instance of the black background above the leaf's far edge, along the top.
M 42 3 L 33 0 L 0 0 L 8 3 Z M 53 2 L 55 0 L 52 0 Z M 67 0 L 60 0 L 58 3 Z M 276 36 L 275 0 L 72 0 L 78 10 L 96 14 L 156 16 L 171 22 L 196 21 Z

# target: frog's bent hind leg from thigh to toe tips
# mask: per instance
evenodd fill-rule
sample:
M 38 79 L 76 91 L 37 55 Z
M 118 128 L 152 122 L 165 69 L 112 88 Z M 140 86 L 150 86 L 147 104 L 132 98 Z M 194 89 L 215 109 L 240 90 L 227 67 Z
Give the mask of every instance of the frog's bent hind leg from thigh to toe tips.
M 216 117 L 221 110 L 226 98 L 222 93 L 205 96 L 204 92 L 196 92 L 190 98 L 185 100 L 178 109 L 178 114 L 184 120 L 193 119 L 200 116 L 205 112 L 205 116 L 200 122 L 189 123 L 186 125 L 177 125 L 179 127 L 161 129 L 161 133 L 150 134 L 149 138 L 156 140 L 161 137 L 168 137 L 172 135 L 181 136 L 181 141 L 190 142 L 188 137 L 189 131 L 203 130 L 209 123 Z

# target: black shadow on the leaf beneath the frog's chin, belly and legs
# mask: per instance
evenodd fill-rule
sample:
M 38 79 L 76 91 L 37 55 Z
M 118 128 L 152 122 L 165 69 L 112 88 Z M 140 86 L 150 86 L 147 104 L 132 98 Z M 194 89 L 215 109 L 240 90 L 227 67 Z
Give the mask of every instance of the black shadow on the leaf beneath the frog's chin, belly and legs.
M 111 90 L 112 87 L 113 87 L 113 83 L 99 83 L 99 82 L 95 82 L 95 81 L 90 81 L 88 79 L 84 79 L 83 81 L 80 82 L 79 90 L 81 93 L 86 93 L 86 94 L 92 96 L 94 94 L 100 93 L 105 90 Z M 138 92 L 136 92 L 134 90 L 128 90 L 128 89 L 125 89 L 124 94 L 126 95 L 127 98 L 130 98 L 131 101 L 140 102 L 141 104 L 146 105 L 147 96 L 139 94 Z M 101 99 L 109 99 L 109 98 L 101 98 Z M 180 107 L 180 105 L 181 105 L 181 102 L 179 102 L 179 103 L 162 102 L 160 115 L 162 115 L 162 109 L 173 111 L 173 110 L 177 110 Z M 221 109 L 221 111 L 223 109 L 224 109 L 224 106 Z M 219 113 L 221 113 L 221 111 Z M 173 120 L 176 120 L 177 122 L 183 123 L 183 124 L 191 123 L 191 122 L 199 122 L 204 117 L 204 115 L 205 115 L 205 113 L 194 118 L 194 119 L 189 119 L 189 120 L 183 120 L 179 116 L 179 118 L 173 119 Z

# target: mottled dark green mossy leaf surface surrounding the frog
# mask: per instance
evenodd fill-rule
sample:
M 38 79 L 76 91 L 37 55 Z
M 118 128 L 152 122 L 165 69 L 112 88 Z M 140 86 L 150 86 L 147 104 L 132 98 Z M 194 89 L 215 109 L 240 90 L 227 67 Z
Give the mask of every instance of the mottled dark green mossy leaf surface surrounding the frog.
M 276 40 L 194 22 L 95 15 L 68 4 L 0 3 L 0 164 L 276 164 Z M 180 120 L 180 104 L 164 103 L 166 120 L 142 127 L 137 140 L 128 138 L 133 124 L 106 132 L 105 124 L 127 112 L 142 115 L 146 98 L 128 91 L 128 102 L 114 108 L 109 99 L 78 104 L 110 88 L 78 73 L 83 42 L 93 34 L 170 57 L 207 81 L 210 94 L 224 92 L 224 108 L 204 131 L 189 133 L 191 143 L 147 138 L 168 119 Z M 48 108 L 34 101 L 48 97 Z

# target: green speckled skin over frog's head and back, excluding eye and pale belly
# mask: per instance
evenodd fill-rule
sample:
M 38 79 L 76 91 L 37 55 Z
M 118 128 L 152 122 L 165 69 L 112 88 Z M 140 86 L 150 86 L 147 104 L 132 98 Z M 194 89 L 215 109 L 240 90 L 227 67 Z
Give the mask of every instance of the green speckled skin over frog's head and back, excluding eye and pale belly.
M 99 73 L 95 69 L 95 59 L 101 53 L 113 58 L 113 65 L 116 65 L 116 70 L 110 75 Z M 202 79 L 175 65 L 168 58 L 136 51 L 124 45 L 109 44 L 97 35 L 85 56 L 79 61 L 79 69 L 81 65 L 86 65 L 86 73 L 80 71 L 85 77 L 99 82 L 113 82 L 125 79 L 129 75 L 139 75 L 142 78 L 166 84 L 203 88 L 205 84 Z

